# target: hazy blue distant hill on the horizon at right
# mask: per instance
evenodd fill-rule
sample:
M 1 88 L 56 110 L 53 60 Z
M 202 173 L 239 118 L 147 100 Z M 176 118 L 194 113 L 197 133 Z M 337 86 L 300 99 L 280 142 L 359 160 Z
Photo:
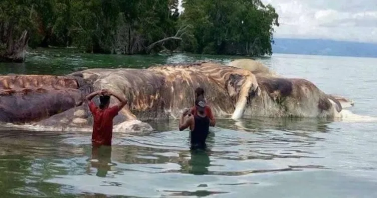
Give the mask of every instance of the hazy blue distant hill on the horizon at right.
M 324 39 L 274 39 L 272 52 L 327 56 L 376 57 L 377 44 Z

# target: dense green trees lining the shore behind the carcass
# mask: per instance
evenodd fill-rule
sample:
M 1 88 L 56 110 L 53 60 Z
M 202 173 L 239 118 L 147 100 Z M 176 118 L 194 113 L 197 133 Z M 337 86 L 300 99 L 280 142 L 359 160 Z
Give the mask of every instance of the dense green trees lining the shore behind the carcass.
M 179 14 L 178 0 L 1 1 L 0 57 L 22 62 L 23 43 L 102 54 L 272 54 L 273 27 L 279 23 L 271 5 L 186 0 L 182 6 Z

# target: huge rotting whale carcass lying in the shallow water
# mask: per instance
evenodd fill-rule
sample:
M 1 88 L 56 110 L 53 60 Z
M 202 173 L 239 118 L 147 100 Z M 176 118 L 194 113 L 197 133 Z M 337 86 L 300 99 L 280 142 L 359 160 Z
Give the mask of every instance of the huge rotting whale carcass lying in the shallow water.
M 268 69 L 198 62 L 148 69 L 88 69 L 65 76 L 0 77 L 0 122 L 30 130 L 91 131 L 85 95 L 100 89 L 123 94 L 128 104 L 114 119 L 114 131 L 152 130 L 148 120 L 175 119 L 194 104 L 203 87 L 217 118 L 243 116 L 329 117 L 342 109 L 340 97 L 305 79 Z M 98 98 L 93 99 L 98 104 Z M 117 102 L 111 98 L 110 106 Z

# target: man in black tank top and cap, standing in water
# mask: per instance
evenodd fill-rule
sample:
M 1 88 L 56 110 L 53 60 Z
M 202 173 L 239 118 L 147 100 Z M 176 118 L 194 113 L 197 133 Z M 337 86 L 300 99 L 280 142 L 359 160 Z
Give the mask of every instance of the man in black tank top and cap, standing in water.
M 210 118 L 205 113 L 206 102 L 203 98 L 195 101 L 197 113 L 185 111 L 179 120 L 179 131 L 190 127 L 191 149 L 205 149 L 206 139 L 210 129 Z

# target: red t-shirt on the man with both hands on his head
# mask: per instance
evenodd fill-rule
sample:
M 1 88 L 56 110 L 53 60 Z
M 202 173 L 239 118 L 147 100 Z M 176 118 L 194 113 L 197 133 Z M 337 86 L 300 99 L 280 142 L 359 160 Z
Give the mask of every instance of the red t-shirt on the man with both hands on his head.
M 111 146 L 111 139 L 113 136 L 113 118 L 118 115 L 118 105 L 102 110 L 98 108 L 94 102 L 90 101 L 89 109 L 94 118 L 92 143 L 94 145 Z

